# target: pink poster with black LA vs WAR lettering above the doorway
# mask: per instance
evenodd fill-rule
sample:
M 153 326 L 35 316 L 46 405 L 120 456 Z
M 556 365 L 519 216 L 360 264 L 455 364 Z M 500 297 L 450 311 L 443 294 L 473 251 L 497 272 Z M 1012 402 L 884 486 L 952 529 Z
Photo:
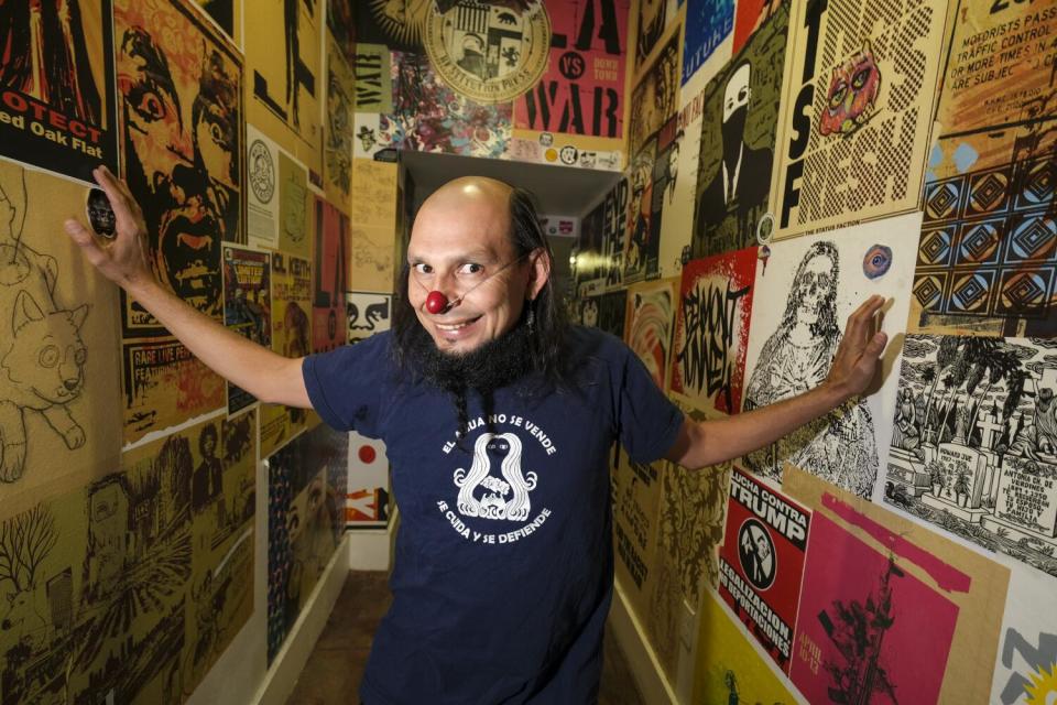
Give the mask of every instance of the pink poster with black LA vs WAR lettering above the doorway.
M 629 0 L 547 3 L 549 63 L 540 82 L 514 100 L 515 137 L 548 133 L 558 148 L 622 149 L 630 8 Z

